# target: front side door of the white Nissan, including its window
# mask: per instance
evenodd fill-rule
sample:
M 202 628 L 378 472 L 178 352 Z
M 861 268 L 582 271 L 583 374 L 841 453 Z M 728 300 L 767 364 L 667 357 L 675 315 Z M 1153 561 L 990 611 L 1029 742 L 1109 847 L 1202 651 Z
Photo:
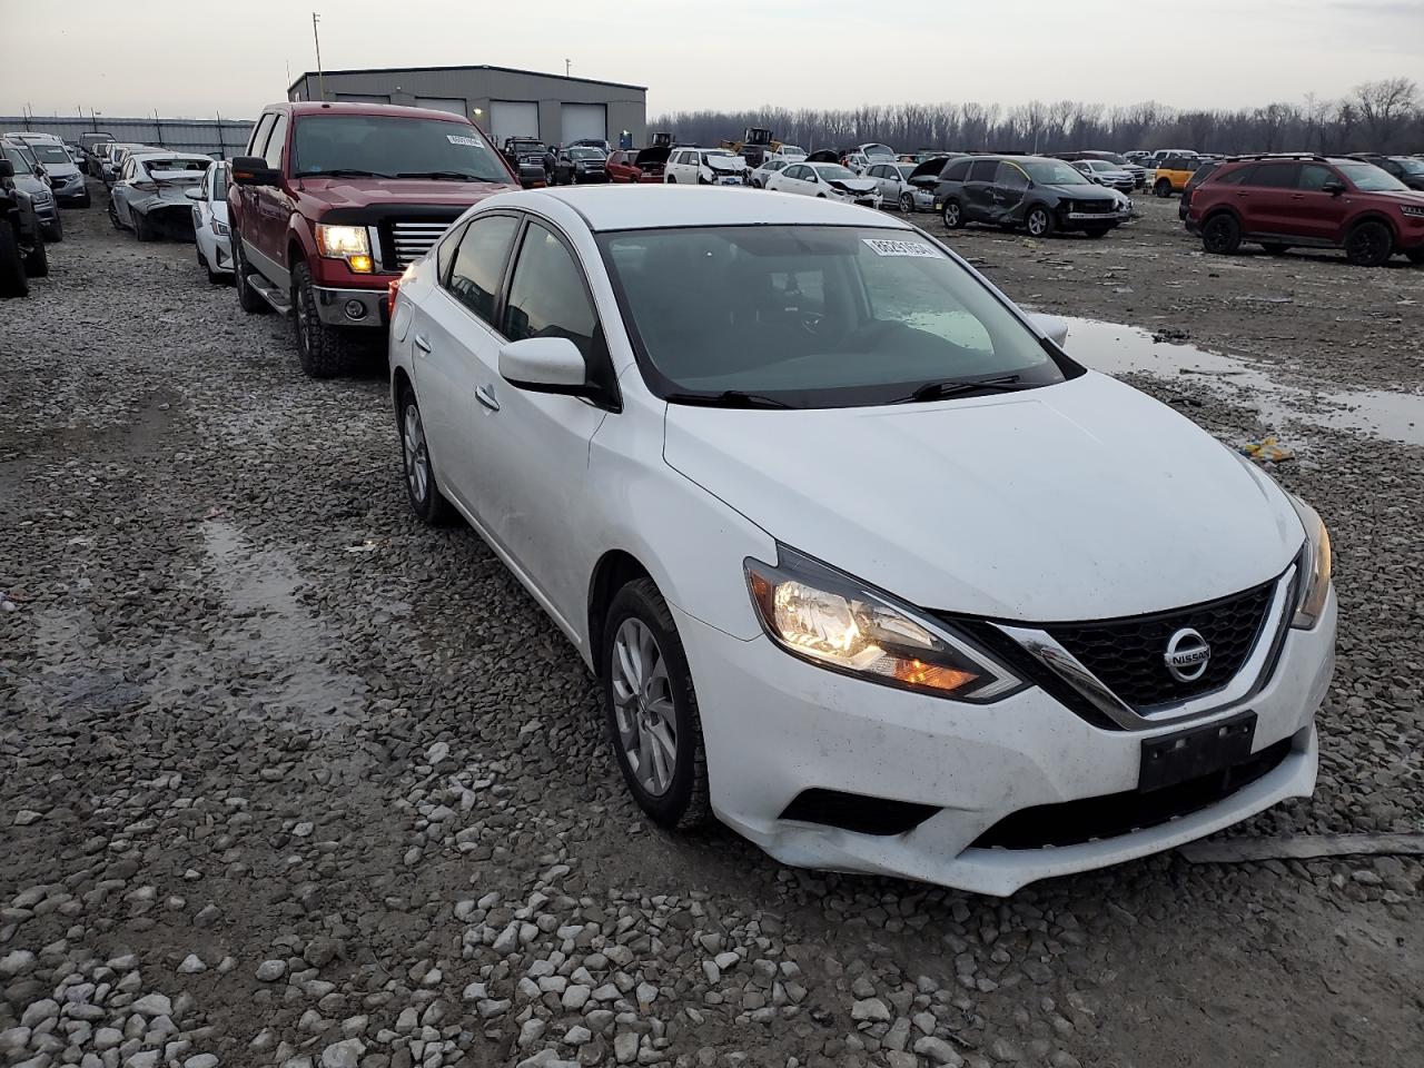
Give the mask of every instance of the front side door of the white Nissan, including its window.
M 525 222 L 506 290 L 506 337 L 568 337 L 590 379 L 614 380 L 588 281 L 553 224 Z M 481 515 L 553 609 L 577 621 L 588 604 L 588 568 L 577 550 L 588 447 L 608 412 L 578 397 L 515 389 L 500 377 L 497 347 L 480 373 L 488 400 L 477 433 L 490 476 L 480 488 Z

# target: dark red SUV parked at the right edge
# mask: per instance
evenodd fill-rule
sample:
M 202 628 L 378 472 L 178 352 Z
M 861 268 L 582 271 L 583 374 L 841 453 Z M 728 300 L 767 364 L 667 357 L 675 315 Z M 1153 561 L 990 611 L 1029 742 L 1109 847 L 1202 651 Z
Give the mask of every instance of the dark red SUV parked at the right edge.
M 1374 164 L 1323 155 L 1232 157 L 1192 192 L 1186 228 L 1208 252 L 1343 248 L 1360 266 L 1424 263 L 1424 192 Z

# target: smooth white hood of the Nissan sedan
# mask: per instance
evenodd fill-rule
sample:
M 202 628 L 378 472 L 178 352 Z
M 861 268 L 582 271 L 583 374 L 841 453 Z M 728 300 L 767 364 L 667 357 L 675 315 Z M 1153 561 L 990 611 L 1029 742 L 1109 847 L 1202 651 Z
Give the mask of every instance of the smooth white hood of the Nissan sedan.
M 1279 487 L 1096 373 L 927 404 L 669 404 L 664 456 L 783 544 L 924 608 L 1106 619 L 1247 590 L 1303 531 Z

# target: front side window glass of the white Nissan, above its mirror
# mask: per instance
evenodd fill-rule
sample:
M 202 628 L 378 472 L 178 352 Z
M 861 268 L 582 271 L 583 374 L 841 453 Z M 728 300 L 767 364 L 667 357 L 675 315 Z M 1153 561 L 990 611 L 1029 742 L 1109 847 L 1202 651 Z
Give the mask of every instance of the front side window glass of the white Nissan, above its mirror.
M 459 266 L 457 261 L 456 271 Z M 568 337 L 591 363 L 597 330 L 598 316 L 574 258 L 558 238 L 531 222 L 514 265 L 504 335 L 515 342 Z

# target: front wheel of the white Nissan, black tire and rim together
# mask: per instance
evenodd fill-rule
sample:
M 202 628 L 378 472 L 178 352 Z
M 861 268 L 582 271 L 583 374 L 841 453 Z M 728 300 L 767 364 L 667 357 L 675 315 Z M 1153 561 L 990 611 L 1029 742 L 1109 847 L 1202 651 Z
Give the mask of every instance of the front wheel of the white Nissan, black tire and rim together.
M 604 619 L 604 716 L 634 800 L 661 827 L 711 822 L 702 719 L 668 602 L 651 578 L 619 590 Z

